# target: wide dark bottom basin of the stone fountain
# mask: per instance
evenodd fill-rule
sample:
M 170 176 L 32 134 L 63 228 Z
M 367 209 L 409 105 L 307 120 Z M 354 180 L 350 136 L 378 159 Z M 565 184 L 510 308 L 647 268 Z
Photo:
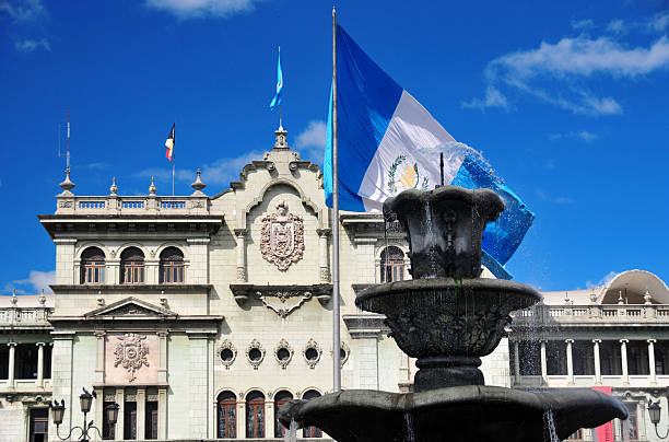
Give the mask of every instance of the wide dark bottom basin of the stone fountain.
M 537 442 L 552 410 L 559 440 L 579 428 L 626 419 L 618 399 L 580 388 L 525 392 L 469 385 L 421 393 L 351 389 L 278 410 L 286 428 L 318 427 L 339 442 Z

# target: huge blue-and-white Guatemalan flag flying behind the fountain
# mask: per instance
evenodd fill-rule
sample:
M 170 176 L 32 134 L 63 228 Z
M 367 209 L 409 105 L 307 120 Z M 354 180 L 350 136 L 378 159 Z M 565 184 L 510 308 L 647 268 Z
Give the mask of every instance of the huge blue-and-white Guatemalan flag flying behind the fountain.
M 409 189 L 441 184 L 490 188 L 506 209 L 483 234 L 483 264 L 496 277 L 530 228 L 535 214 L 473 149 L 458 143 L 407 91 L 337 26 L 339 207 L 380 210 L 383 201 Z M 324 160 L 326 203 L 332 207 L 332 94 Z

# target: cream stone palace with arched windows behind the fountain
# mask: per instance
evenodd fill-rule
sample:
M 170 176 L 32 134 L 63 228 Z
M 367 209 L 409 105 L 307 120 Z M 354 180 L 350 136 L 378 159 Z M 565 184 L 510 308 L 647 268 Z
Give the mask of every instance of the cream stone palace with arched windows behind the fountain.
M 198 172 L 189 196 L 159 196 L 153 182 L 146 196 L 120 196 L 116 183 L 106 196 L 77 196 L 68 172 L 56 212 L 39 216 L 56 245 L 54 293 L 0 296 L 1 441 L 58 440 L 55 399 L 64 399 L 67 435 L 83 422 L 83 387 L 95 393 L 92 440 L 283 440 L 277 407 L 331 392 L 334 351 L 342 388 L 411 391 L 413 361 L 382 315 L 354 304 L 369 284 L 410 278 L 403 232 L 376 213 L 341 213 L 333 345 L 322 173 L 282 128 L 274 135 L 262 159 L 210 195 Z M 646 403 L 667 414 L 669 289 L 632 270 L 594 290 L 544 293 L 515 313 L 483 372 L 516 388 L 610 386 L 631 411 L 617 440 L 656 440 Z M 327 439 L 317 428 L 298 437 Z

